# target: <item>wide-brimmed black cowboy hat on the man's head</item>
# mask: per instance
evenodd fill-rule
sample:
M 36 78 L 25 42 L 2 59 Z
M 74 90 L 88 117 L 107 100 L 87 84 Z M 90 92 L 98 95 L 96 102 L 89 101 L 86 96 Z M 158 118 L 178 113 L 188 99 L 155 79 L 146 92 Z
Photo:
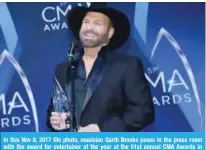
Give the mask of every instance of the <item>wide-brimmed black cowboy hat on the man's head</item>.
M 118 48 L 126 42 L 130 35 L 130 23 L 128 18 L 122 12 L 108 7 L 105 2 L 91 3 L 89 8 L 77 6 L 70 11 L 68 14 L 68 24 L 78 40 L 82 20 L 87 12 L 100 12 L 110 18 L 115 31 L 108 44 L 109 48 Z

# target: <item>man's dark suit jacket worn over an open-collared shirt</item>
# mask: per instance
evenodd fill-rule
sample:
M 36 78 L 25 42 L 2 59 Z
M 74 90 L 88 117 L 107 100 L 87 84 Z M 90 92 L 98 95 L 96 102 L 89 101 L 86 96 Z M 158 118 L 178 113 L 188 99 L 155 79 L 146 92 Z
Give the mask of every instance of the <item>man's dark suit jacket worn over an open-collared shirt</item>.
M 154 105 L 141 61 L 117 53 L 106 55 L 108 67 L 86 96 L 80 126 L 98 124 L 101 131 L 138 131 L 154 121 Z M 68 63 L 58 65 L 55 76 L 66 83 Z M 66 92 L 66 91 L 65 91 Z M 52 104 L 49 109 L 49 116 Z

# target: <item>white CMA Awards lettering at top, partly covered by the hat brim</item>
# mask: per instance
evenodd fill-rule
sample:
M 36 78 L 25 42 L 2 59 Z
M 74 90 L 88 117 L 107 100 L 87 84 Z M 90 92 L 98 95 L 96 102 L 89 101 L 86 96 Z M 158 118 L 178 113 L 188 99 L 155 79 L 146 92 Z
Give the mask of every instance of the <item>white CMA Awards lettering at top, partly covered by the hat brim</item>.
M 90 2 L 77 3 L 77 6 L 84 5 L 89 7 Z M 45 22 L 44 32 L 68 29 L 66 16 L 72 7 L 74 7 L 74 4 L 68 2 L 62 2 L 58 6 L 45 7 L 41 12 L 42 19 Z

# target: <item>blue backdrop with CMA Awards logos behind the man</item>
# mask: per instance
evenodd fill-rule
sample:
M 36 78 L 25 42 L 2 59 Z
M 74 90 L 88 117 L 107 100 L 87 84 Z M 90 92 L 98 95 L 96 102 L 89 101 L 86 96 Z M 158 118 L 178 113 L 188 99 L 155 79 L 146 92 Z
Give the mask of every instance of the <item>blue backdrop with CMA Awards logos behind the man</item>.
M 0 131 L 49 131 L 46 110 L 56 65 L 72 35 L 76 5 L 0 3 Z M 118 51 L 139 57 L 151 86 L 155 123 L 143 131 L 204 131 L 205 3 L 109 3 L 131 22 Z

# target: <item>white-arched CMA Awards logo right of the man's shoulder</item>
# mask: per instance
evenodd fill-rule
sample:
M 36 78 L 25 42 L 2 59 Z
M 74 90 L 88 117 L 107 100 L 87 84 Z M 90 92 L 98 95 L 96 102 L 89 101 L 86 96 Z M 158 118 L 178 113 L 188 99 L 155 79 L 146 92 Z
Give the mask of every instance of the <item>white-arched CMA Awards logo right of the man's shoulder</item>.
M 161 28 L 156 36 L 156 40 L 150 54 L 150 59 L 151 61 L 153 61 L 153 59 L 155 58 L 157 47 L 163 37 L 165 37 L 169 41 L 169 43 L 172 45 L 173 49 L 177 53 L 184 67 L 184 70 L 189 78 L 189 82 L 186 82 L 185 76 L 183 76 L 182 72 L 178 69 L 174 69 L 172 71 L 171 76 L 168 79 L 168 76 L 166 77 L 165 72 L 161 70 L 160 66 L 148 68 L 147 73 L 145 73 L 146 79 L 154 89 L 159 88 L 159 86 L 161 86 L 163 92 L 161 95 L 153 96 L 153 102 L 157 106 L 166 106 L 181 103 L 188 104 L 191 103 L 192 100 L 195 100 L 197 104 L 197 111 L 202 124 L 203 120 L 201 113 L 200 97 L 197 89 L 197 84 L 195 81 L 195 76 L 192 72 L 192 68 L 189 64 L 189 61 L 187 60 L 186 55 L 184 54 L 184 51 L 182 50 L 178 42 L 164 28 Z M 152 78 L 153 75 L 157 75 L 155 76 L 155 79 Z M 177 94 L 177 92 L 174 92 L 176 88 L 183 88 L 186 92 Z M 190 88 L 192 89 L 192 91 Z

